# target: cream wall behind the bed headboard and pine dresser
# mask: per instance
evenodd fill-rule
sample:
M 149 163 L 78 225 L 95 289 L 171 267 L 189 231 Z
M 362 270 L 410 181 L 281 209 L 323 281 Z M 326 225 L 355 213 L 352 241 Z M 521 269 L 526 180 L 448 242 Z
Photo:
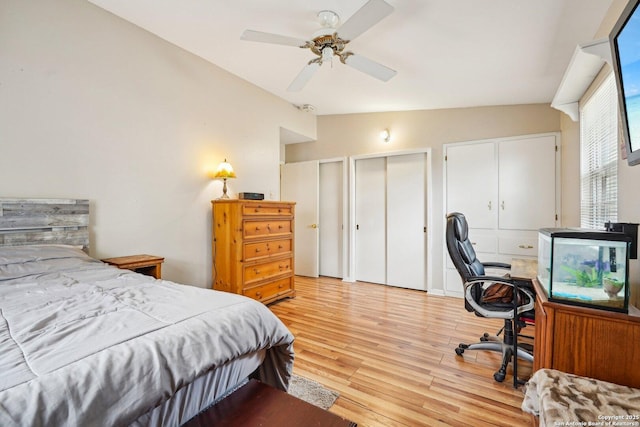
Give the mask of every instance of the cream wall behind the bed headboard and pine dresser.
M 300 112 L 83 0 L 0 0 L 0 196 L 91 200 L 91 253 L 166 257 L 163 276 L 208 287 L 211 206 L 279 198 L 280 128 Z

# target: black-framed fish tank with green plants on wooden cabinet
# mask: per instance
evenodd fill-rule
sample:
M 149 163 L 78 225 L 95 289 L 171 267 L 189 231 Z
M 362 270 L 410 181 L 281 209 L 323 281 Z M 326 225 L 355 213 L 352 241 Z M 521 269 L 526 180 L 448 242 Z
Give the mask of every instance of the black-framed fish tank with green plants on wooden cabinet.
M 630 245 L 623 233 L 540 229 L 538 281 L 549 301 L 627 313 Z

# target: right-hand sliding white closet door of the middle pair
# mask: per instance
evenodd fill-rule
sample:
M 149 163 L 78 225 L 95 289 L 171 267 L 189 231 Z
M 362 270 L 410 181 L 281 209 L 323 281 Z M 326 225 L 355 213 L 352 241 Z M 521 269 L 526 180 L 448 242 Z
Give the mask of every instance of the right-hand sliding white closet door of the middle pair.
M 387 284 L 426 290 L 425 159 L 387 157 Z

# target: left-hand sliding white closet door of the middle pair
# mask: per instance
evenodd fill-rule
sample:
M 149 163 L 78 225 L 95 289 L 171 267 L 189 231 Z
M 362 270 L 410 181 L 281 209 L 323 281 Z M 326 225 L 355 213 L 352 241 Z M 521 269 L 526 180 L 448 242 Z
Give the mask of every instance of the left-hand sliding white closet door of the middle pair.
M 355 278 L 386 283 L 385 158 L 355 162 Z

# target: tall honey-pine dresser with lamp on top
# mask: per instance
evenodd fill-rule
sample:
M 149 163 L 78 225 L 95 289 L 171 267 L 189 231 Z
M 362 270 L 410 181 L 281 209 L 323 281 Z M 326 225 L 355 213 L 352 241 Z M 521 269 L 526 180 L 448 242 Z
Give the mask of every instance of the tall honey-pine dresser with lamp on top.
M 213 200 L 213 289 L 270 303 L 295 296 L 295 203 Z

